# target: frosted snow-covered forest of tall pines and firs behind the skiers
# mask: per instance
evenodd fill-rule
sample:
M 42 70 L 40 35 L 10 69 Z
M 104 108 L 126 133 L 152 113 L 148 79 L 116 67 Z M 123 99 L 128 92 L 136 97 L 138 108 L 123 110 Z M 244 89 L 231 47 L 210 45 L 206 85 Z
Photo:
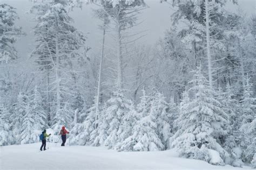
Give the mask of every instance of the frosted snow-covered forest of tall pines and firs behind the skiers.
M 241 1 L 154 0 L 174 12 L 152 46 L 137 29 L 146 0 L 28 1 L 26 69 L 17 9 L 0 2 L 0 146 L 37 143 L 48 128 L 57 142 L 64 125 L 71 145 L 256 168 L 256 15 L 225 9 Z M 97 49 L 73 25 L 84 6 L 100 21 Z

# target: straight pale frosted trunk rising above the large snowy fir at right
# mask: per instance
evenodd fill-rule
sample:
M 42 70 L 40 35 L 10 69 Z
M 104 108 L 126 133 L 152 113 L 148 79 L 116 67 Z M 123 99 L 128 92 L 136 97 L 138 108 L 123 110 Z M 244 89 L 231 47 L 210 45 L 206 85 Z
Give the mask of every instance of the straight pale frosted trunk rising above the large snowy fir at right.
M 210 88 L 212 89 L 212 56 L 211 56 L 211 38 L 210 38 L 210 6 L 209 1 L 205 0 L 205 26 L 206 26 L 206 47 L 207 47 L 207 60 L 208 60 L 208 77 Z

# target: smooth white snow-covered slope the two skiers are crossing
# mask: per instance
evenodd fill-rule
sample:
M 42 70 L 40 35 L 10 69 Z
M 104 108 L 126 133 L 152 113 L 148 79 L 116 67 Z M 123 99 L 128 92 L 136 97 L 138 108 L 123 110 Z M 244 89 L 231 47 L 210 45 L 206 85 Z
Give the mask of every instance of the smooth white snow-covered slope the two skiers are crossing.
M 160 152 L 117 152 L 105 147 L 65 146 L 47 143 L 49 150 L 39 151 L 41 143 L 0 148 L 0 169 L 248 169 L 213 166 L 204 161 L 178 158 L 173 150 Z

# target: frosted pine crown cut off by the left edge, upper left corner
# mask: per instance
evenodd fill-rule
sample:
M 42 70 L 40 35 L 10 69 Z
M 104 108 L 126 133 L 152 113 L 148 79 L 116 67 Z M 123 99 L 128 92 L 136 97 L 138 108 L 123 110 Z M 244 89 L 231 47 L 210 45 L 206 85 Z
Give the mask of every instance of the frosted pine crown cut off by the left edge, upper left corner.
M 15 26 L 18 19 L 16 9 L 8 4 L 0 4 L 0 63 L 17 58 L 14 43 L 22 35 L 21 27 Z

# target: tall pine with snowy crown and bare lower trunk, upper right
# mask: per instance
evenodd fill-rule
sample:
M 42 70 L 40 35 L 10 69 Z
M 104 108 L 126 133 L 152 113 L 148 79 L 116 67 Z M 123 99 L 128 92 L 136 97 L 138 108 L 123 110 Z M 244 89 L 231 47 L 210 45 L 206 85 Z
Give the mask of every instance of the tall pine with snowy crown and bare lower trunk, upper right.
M 172 1 L 172 5 L 178 7 L 178 10 L 172 15 L 173 25 L 178 25 L 181 20 L 185 20 L 188 24 L 186 29 L 179 31 L 179 35 L 184 42 L 191 46 L 191 52 L 197 61 L 201 59 L 198 57 L 199 55 L 206 55 L 208 80 L 211 88 L 214 87 L 214 68 L 216 68 L 214 57 L 221 58 L 222 56 L 218 56 L 219 52 L 225 50 L 225 44 L 220 40 L 225 38 L 224 21 L 229 19 L 224 9 L 226 2 L 226 0 Z M 205 48 L 202 48 L 203 46 Z

